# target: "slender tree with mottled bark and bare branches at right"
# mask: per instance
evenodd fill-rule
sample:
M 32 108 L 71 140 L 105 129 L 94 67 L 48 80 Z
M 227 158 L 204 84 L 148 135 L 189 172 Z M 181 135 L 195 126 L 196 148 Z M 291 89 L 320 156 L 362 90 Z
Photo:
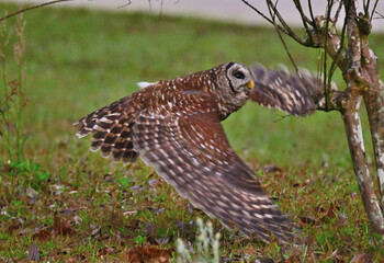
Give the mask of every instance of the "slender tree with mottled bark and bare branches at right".
M 248 1 L 242 0 L 242 2 L 273 24 L 278 32 L 283 32 L 303 46 L 324 49 L 325 54 L 334 60 L 328 71 L 327 55 L 324 56 L 324 83 L 327 83 L 327 80 L 330 83 L 336 66 L 341 70 L 347 89 L 334 92 L 325 88 L 326 106 L 324 103 L 319 103 L 317 108 L 341 112 L 364 208 L 373 230 L 384 238 L 384 83 L 380 81 L 377 58 L 370 49 L 368 41 L 377 1 L 374 1 L 375 3 L 363 1 L 363 12 L 357 11 L 355 0 L 328 1 L 326 14 L 315 16 L 312 9 L 313 1 L 308 0 L 308 16 L 303 11 L 302 1 L 294 0 L 306 32 L 306 36 L 303 38 L 284 21 L 275 1 L 266 0 L 271 18 L 264 15 Z M 342 8 L 345 8 L 346 18 L 341 32 L 338 32 L 336 25 Z M 283 38 L 280 38 L 284 44 Z M 291 58 L 286 47 L 285 49 Z M 295 66 L 295 68 L 297 67 Z M 364 99 L 369 115 L 380 199 L 373 184 L 373 172 L 368 165 L 361 133 L 359 107 L 362 99 Z M 321 100 L 314 98 L 314 101 Z

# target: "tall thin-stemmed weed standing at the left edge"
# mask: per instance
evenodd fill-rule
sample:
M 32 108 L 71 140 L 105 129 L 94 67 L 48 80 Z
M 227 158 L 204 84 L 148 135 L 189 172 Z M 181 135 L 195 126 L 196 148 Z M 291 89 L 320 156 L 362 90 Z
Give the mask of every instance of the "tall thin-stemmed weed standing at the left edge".
M 1 93 L 0 93 L 0 144 L 8 153 L 10 163 L 22 160 L 23 148 L 27 135 L 23 134 L 23 112 L 27 103 L 25 89 L 25 20 L 18 15 L 16 22 L 9 27 L 3 20 L 0 24 L 0 59 L 1 59 Z M 13 33 L 15 35 L 13 35 Z M 13 57 L 16 77 L 9 80 L 8 60 L 10 45 L 13 44 Z

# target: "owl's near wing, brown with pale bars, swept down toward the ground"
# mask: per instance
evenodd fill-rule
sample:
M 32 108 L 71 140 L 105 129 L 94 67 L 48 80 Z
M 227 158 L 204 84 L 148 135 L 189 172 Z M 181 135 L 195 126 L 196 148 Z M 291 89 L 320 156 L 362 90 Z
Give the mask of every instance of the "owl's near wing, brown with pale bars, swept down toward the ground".
M 293 225 L 231 149 L 211 100 L 184 92 L 167 111 L 156 110 L 161 105 L 142 111 L 133 126 L 135 151 L 181 196 L 228 228 L 264 241 L 268 232 L 291 241 Z

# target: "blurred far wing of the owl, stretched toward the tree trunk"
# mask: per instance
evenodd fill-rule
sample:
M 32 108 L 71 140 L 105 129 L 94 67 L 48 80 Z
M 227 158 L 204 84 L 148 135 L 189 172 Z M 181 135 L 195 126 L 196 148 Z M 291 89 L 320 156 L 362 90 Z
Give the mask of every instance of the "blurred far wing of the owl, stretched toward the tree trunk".
M 279 108 L 292 115 L 305 116 L 316 111 L 324 94 L 323 80 L 306 70 L 301 77 L 286 69 L 267 70 L 262 65 L 251 68 L 255 89 L 250 100 L 262 106 Z

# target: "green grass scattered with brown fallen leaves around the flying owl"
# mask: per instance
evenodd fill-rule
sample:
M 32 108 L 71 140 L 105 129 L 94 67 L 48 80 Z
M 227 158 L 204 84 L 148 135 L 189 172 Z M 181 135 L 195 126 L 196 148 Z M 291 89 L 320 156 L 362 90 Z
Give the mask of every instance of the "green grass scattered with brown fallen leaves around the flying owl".
M 2 9 L 16 7 L 0 3 Z M 202 211 L 157 181 L 143 162 L 124 167 L 90 152 L 89 139 L 77 139 L 71 124 L 136 91 L 138 81 L 229 60 L 290 65 L 275 33 L 84 10 L 39 9 L 25 19 L 30 103 L 23 124 L 29 140 L 24 162 L 7 164 L 0 149 L 0 260 L 25 259 L 31 243 L 43 261 L 121 262 L 132 260 L 135 248 L 156 245 L 174 254 L 178 238 L 193 242 L 196 227 L 189 222 L 197 216 L 206 220 Z M 383 41 L 380 35 L 371 39 L 379 58 L 384 57 Z M 289 45 L 302 67 L 317 68 L 317 50 Z M 16 77 L 12 67 L 10 80 Z M 264 188 L 303 226 L 307 247 L 247 240 L 214 220 L 214 232 L 222 233 L 221 254 L 240 261 L 342 262 L 358 253 L 382 259 L 384 247 L 369 230 L 339 114 L 281 116 L 249 103 L 223 125 L 234 149 L 259 171 Z M 368 130 L 366 119 L 364 125 Z M 269 164 L 282 172 L 260 172 Z

